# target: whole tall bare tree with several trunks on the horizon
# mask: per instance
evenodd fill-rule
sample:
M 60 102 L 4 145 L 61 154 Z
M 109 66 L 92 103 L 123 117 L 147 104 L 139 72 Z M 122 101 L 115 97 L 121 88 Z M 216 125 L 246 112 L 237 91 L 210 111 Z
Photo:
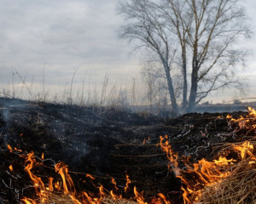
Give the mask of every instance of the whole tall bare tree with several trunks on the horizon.
M 235 45 L 250 33 L 240 0 L 125 0 L 119 12 L 126 18 L 119 37 L 137 39 L 137 48 L 159 55 L 176 113 L 172 70 L 178 59 L 183 110 L 193 111 L 212 91 L 237 84 L 234 68 L 243 63 L 246 53 Z

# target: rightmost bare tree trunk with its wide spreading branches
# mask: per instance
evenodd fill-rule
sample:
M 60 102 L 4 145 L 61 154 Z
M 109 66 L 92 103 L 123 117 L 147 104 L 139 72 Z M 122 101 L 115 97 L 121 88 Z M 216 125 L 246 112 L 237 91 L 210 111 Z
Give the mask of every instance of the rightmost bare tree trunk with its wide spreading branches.
M 239 0 L 186 2 L 193 14 L 188 28 L 193 55 L 188 111 L 192 111 L 212 90 L 236 82 L 230 77 L 232 66 L 244 59 L 245 52 L 232 45 L 249 29 Z

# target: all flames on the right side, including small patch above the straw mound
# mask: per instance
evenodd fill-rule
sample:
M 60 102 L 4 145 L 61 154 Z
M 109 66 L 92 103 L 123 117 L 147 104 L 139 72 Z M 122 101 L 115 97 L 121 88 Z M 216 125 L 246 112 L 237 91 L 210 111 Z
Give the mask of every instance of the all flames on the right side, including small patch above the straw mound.
M 247 130 L 247 133 L 256 128 L 256 125 L 252 124 L 256 120 L 256 111 L 251 107 L 247 108 L 249 116 L 244 118 L 240 116 L 238 119 L 234 119 L 232 116 L 226 116 L 230 119 L 230 125 L 235 123 L 237 125 L 236 132 L 241 129 Z M 218 156 L 218 159 L 207 161 L 206 159 L 201 159 L 195 163 L 189 163 L 187 160 L 182 160 L 181 157 L 177 155 L 172 150 L 172 145 L 169 144 L 168 137 L 160 137 L 160 147 L 166 152 L 166 156 L 170 161 L 168 167 L 176 174 L 177 178 L 182 180 L 183 186 L 183 202 L 195 203 L 201 200 L 201 196 L 205 188 L 218 186 L 221 184 L 225 178 L 232 175 L 232 172 L 239 164 L 247 158 L 247 165 L 255 164 L 255 156 L 253 156 L 253 144 L 249 141 L 245 141 L 240 144 L 231 144 L 230 148 L 226 150 L 226 156 L 229 155 L 230 151 L 235 151 L 238 160 L 235 158 L 227 158 L 225 156 Z M 179 167 L 179 162 L 185 165 L 186 169 Z M 233 170 L 233 171 L 232 171 Z M 194 178 L 191 180 L 189 178 L 192 176 Z

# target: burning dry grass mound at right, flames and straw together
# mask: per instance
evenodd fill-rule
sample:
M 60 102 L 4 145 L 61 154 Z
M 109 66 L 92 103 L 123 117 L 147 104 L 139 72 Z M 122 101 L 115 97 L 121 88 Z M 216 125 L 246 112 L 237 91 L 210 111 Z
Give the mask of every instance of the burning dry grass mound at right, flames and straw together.
M 235 125 L 230 134 L 233 137 L 248 136 L 255 133 L 256 111 L 248 107 L 249 115 L 244 118 L 230 119 L 230 127 Z M 169 168 L 183 182 L 184 203 L 255 203 L 256 157 L 254 152 L 255 136 L 251 141 L 224 144 L 218 151 L 218 160 L 201 159 L 191 163 L 188 158 L 181 158 L 172 150 L 168 137 L 160 137 L 160 146 L 170 161 Z M 164 142 L 165 140 L 165 142 Z M 180 168 L 182 161 L 185 168 Z

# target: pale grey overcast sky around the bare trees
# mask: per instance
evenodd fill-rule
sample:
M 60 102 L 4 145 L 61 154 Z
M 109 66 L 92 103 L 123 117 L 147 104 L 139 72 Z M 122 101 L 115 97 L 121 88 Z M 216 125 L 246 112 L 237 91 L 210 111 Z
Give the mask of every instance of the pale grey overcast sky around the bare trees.
M 87 71 L 99 82 L 105 73 L 120 82 L 127 75 L 138 79 L 140 55 L 129 54 L 132 46 L 117 38 L 123 22 L 115 10 L 118 1 L 1 0 L 0 83 L 11 83 L 15 70 L 26 80 L 41 83 L 45 70 L 45 83 L 61 86 L 71 82 L 78 68 L 78 75 Z M 256 34 L 255 0 L 247 0 L 247 14 Z M 252 51 L 247 70 L 240 74 L 248 80 L 250 97 L 256 97 L 255 39 L 242 42 Z M 217 100 L 233 99 L 232 94 L 219 94 Z

